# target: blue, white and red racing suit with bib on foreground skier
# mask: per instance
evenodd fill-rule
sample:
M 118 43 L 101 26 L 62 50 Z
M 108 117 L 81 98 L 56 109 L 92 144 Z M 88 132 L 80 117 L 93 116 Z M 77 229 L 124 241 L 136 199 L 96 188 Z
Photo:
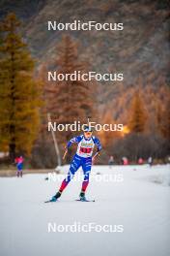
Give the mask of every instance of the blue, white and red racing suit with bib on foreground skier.
M 62 192 L 65 187 L 71 181 L 71 178 L 74 176 L 75 172 L 82 167 L 84 180 L 82 183 L 82 191 L 85 192 L 88 184 L 89 184 L 89 175 L 92 168 L 92 154 L 95 145 L 98 148 L 98 151 L 101 150 L 101 144 L 99 143 L 99 139 L 95 136 L 92 136 L 90 139 L 86 139 L 83 135 L 74 137 L 67 144 L 67 148 L 71 146 L 71 144 L 77 144 L 77 150 L 75 155 L 71 160 L 71 167 L 68 173 L 68 176 L 63 180 L 62 185 L 59 189 Z

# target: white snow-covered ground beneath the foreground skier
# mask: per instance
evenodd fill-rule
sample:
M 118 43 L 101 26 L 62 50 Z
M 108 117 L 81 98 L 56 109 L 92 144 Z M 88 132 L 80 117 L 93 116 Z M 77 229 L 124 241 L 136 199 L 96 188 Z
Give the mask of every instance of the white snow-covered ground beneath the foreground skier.
M 44 177 L 0 178 L 0 255 L 170 255 L 170 166 L 94 166 L 87 197 L 95 203 L 74 201 L 77 174 L 60 202 L 43 204 L 62 176 Z M 83 225 L 114 232 L 73 232 Z

